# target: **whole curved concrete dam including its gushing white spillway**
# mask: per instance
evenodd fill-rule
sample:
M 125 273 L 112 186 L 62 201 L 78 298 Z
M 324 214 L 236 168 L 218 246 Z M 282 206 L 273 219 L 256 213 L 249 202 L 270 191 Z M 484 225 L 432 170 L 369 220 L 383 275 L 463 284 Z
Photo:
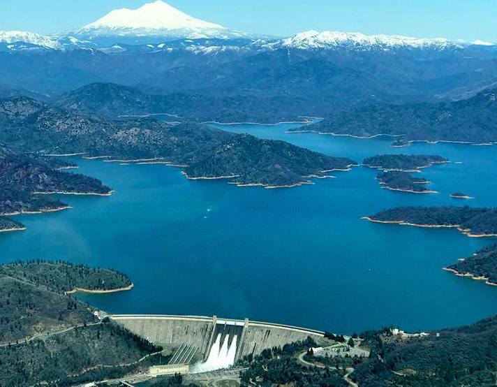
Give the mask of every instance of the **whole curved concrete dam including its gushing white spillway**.
M 114 315 L 110 319 L 153 344 L 174 350 L 173 364 L 188 364 L 194 356 L 202 359 L 200 372 L 229 367 L 244 356 L 257 356 L 275 346 L 324 336 L 318 330 L 216 316 Z

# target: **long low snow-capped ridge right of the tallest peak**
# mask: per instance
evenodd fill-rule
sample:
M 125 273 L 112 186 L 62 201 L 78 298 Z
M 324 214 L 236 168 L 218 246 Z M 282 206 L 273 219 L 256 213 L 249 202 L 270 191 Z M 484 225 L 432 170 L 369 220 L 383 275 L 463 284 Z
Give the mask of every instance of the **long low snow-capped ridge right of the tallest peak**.
M 290 36 L 290 38 L 269 43 L 268 47 L 293 48 L 298 50 L 327 50 L 336 48 L 354 50 L 392 50 L 399 48 L 445 50 L 447 48 L 462 48 L 463 46 L 443 38 L 420 39 L 397 35 L 368 36 L 358 32 L 306 31 Z

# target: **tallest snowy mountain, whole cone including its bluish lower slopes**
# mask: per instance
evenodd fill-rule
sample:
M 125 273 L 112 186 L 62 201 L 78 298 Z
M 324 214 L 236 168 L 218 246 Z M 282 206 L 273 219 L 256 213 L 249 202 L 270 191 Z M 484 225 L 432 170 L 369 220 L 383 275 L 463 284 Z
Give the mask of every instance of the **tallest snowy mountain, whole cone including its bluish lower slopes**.
M 240 38 L 249 36 L 240 31 L 206 22 L 188 15 L 164 1 L 158 0 L 146 3 L 144 6 L 131 10 L 122 8 L 112 10 L 104 17 L 88 24 L 82 29 L 73 32 L 78 38 L 91 40 L 108 38 L 138 38 L 139 41 L 149 38 L 154 43 L 154 38 Z M 122 43 L 114 41 L 114 43 Z

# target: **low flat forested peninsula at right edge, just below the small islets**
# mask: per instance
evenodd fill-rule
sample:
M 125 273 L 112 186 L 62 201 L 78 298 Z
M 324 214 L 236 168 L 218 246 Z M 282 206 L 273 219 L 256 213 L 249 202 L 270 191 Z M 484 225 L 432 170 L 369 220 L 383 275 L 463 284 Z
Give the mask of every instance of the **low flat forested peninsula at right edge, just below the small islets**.
M 469 237 L 497 236 L 497 209 L 473 207 L 396 207 L 365 219 L 377 223 L 457 228 Z

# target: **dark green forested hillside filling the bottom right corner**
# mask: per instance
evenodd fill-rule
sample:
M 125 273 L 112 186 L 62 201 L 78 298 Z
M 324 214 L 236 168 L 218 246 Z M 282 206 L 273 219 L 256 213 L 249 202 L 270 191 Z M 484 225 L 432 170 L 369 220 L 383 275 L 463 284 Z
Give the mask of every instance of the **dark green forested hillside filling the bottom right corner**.
M 364 336 L 371 356 L 350 375 L 361 387 L 495 385 L 497 317 L 428 337 L 399 337 L 390 330 Z

